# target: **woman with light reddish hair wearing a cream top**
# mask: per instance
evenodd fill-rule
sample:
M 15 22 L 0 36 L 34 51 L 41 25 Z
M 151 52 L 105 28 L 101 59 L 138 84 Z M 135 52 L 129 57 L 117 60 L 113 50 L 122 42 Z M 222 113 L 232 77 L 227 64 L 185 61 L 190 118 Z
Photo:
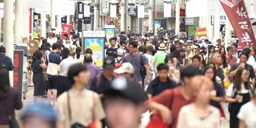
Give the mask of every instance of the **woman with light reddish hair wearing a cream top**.
M 194 93 L 195 102 L 183 106 L 179 111 L 177 128 L 220 127 L 220 112 L 209 104 L 213 88 L 213 82 L 209 78 L 203 77 L 200 87 Z

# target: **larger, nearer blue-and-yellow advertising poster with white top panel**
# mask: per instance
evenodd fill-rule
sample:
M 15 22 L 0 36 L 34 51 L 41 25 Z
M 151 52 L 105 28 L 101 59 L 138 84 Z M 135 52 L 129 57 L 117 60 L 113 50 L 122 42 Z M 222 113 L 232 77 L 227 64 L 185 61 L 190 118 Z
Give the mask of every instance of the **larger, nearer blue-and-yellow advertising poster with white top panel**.
M 105 58 L 105 31 L 84 31 L 83 35 L 86 35 L 84 37 L 84 49 L 90 48 L 93 51 L 93 61 L 102 70 Z

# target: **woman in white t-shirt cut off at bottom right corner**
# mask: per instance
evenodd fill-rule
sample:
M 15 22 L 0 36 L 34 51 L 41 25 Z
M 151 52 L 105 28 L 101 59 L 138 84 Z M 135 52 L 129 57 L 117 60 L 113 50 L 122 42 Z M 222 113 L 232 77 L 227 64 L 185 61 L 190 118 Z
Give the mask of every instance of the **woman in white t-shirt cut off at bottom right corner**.
M 238 113 L 239 118 L 239 128 L 253 128 L 256 127 L 256 86 L 254 85 L 254 90 L 252 92 L 253 96 L 250 102 L 243 105 Z

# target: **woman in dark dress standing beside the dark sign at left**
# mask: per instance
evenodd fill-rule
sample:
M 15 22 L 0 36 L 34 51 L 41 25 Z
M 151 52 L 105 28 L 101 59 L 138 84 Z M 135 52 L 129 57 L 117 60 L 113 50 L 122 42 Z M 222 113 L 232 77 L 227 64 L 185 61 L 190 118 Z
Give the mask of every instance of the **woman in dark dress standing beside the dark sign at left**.
M 43 81 L 42 71 L 46 70 L 46 61 L 42 58 L 42 52 L 36 50 L 33 54 L 32 62 L 33 83 L 34 83 L 34 102 L 38 101 L 38 96 L 45 94 L 45 82 Z

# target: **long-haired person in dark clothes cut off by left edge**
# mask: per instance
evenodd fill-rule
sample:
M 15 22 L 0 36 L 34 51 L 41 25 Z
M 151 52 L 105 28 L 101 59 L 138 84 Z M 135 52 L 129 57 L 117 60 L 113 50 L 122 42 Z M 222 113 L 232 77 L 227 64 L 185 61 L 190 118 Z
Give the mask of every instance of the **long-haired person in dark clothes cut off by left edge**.
M 9 128 L 14 110 L 22 109 L 22 98 L 18 90 L 10 87 L 9 71 L 0 68 L 0 127 Z

